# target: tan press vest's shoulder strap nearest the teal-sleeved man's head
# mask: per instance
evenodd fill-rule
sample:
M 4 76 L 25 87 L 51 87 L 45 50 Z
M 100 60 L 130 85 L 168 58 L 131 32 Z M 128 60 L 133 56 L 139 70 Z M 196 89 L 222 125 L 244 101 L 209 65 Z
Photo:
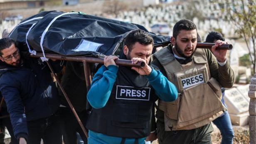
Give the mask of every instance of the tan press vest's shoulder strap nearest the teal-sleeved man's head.
M 164 48 L 153 54 L 153 58 L 158 59 L 162 66 L 166 66 L 168 63 L 175 59 L 170 50 L 168 49 L 168 46 L 165 46 Z

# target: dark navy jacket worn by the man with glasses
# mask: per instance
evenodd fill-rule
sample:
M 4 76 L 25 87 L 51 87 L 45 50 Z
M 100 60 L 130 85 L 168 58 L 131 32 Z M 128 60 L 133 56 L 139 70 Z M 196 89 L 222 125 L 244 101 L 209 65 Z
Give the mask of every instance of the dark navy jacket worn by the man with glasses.
M 55 71 L 62 68 L 52 62 Z M 0 63 L 0 91 L 5 98 L 15 137 L 27 138 L 27 121 L 54 114 L 59 105 L 58 90 L 46 64 L 24 60 L 20 67 Z

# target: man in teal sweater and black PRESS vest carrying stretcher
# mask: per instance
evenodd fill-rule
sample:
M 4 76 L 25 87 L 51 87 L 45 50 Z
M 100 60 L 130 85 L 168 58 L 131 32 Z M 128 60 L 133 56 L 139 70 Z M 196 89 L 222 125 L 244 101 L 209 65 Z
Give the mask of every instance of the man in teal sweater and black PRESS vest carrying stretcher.
M 104 58 L 104 66 L 95 74 L 87 94 L 93 107 L 86 125 L 89 144 L 144 144 L 155 130 L 151 128 L 154 102 L 158 98 L 167 102 L 177 98 L 175 85 L 148 66 L 153 39 L 147 32 L 130 32 L 123 45 L 120 59 L 146 64 L 130 68 L 117 66 L 117 56 Z

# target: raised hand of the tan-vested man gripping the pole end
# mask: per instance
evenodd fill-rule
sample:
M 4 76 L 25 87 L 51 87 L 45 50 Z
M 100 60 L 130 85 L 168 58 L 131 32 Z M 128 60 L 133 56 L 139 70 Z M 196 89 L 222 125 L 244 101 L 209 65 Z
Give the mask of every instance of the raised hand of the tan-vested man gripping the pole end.
M 221 40 L 217 40 L 215 42 L 215 45 L 212 46 L 212 54 L 217 58 L 217 60 L 221 63 L 223 63 L 224 61 L 226 61 L 226 52 L 228 50 L 223 50 L 223 49 L 217 49 L 216 48 L 218 46 L 221 46 L 222 44 L 228 44 L 228 42 L 226 41 L 221 41 Z

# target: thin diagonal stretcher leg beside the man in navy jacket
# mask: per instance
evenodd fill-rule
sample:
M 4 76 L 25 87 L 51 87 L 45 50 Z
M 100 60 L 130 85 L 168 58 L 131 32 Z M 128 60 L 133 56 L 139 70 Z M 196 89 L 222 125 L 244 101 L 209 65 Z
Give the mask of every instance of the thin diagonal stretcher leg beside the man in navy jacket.
M 47 63 L 47 65 L 49 66 L 50 70 L 52 71 L 53 76 L 54 76 L 54 78 L 56 79 L 57 84 L 59 85 L 59 88 L 62 90 L 62 93 L 63 93 L 64 97 L 66 98 L 66 101 L 68 102 L 69 107 L 71 108 L 72 112 L 74 113 L 77 122 L 79 123 L 79 125 L 80 125 L 81 129 L 83 130 L 85 136 L 88 138 L 88 134 L 87 134 L 87 132 L 86 132 L 86 130 L 85 130 L 85 128 L 84 128 L 84 125 L 82 124 L 82 122 L 81 122 L 79 116 L 77 115 L 76 110 L 75 110 L 75 108 L 73 107 L 71 101 L 69 100 L 69 98 L 68 98 L 68 96 L 67 96 L 67 94 L 66 94 L 64 88 L 62 87 L 62 85 L 61 85 L 59 79 L 57 78 L 56 74 L 54 73 L 51 64 L 49 63 L 49 61 L 46 61 L 46 63 Z

